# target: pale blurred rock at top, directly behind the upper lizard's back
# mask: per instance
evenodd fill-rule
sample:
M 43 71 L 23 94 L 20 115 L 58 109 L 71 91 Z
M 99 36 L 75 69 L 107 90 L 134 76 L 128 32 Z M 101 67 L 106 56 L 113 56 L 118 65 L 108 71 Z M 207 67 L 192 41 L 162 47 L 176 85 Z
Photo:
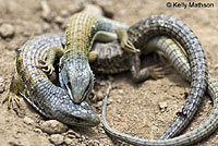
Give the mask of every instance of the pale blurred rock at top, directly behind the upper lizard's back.
M 98 16 L 102 16 L 104 14 L 101 8 L 95 4 L 86 4 L 85 9 L 82 12 L 87 13 L 87 14 L 98 15 Z

